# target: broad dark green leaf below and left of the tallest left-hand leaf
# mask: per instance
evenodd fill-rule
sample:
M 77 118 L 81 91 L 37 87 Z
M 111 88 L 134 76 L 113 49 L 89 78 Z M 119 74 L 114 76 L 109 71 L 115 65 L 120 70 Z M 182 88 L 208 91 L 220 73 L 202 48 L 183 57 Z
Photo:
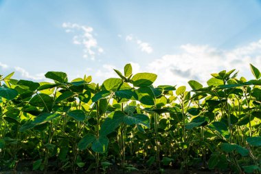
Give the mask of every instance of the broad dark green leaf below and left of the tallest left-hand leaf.
M 33 98 L 31 98 L 29 103 L 34 107 L 46 107 L 48 111 L 51 111 L 54 98 L 48 96 L 47 94 L 36 94 Z

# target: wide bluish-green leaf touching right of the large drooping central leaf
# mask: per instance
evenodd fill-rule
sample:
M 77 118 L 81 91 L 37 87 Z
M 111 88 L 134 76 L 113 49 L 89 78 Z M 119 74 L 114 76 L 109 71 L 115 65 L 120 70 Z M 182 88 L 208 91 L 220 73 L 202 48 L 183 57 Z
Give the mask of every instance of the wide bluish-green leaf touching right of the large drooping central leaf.
M 150 128 L 150 118 L 142 113 L 133 114 L 133 116 L 126 115 L 124 116 L 124 122 L 128 125 L 142 124 Z

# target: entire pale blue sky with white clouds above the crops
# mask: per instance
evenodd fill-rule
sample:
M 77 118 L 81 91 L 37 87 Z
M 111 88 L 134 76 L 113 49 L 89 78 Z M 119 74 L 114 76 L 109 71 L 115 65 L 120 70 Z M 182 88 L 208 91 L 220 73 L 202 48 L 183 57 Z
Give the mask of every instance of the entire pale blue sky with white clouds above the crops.
M 96 83 L 132 63 L 157 84 L 201 82 L 223 69 L 261 69 L 261 1 L 0 0 L 0 71 L 48 71 Z

